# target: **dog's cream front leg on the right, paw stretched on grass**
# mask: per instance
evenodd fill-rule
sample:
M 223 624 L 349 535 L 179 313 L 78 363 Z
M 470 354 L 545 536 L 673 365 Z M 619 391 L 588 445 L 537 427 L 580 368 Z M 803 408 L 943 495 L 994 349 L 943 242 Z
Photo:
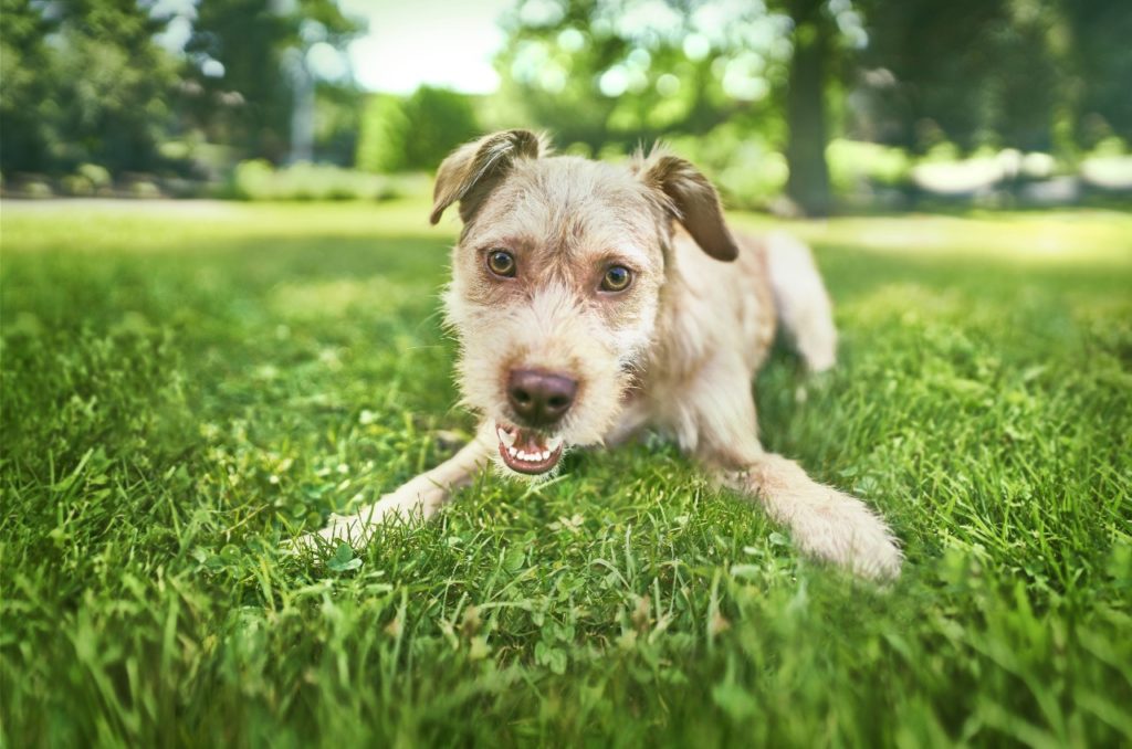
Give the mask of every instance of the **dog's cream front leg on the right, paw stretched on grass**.
M 702 371 L 685 390 L 685 424 L 695 425 L 695 436 L 686 433 L 681 442 L 717 481 L 762 502 L 804 552 L 865 577 L 895 577 L 902 557 L 884 520 L 859 499 L 817 483 L 797 463 L 763 450 L 741 362 L 724 356 Z

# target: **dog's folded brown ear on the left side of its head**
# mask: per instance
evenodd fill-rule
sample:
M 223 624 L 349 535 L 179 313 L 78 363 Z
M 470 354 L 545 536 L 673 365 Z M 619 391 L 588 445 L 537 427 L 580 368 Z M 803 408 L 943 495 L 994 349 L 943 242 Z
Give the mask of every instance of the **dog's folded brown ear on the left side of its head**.
M 461 146 L 436 173 L 429 222 L 436 224 L 458 200 L 460 217 L 466 224 L 516 158 L 538 158 L 546 149 L 543 139 L 530 130 L 504 130 Z

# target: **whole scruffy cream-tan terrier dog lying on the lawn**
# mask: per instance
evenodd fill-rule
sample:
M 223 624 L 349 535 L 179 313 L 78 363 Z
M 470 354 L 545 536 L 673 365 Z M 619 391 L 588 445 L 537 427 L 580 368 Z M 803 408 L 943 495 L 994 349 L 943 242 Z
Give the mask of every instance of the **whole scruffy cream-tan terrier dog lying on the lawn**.
M 752 380 L 781 321 L 812 371 L 833 365 L 829 296 L 806 247 L 736 236 L 692 164 L 654 150 L 627 165 L 550 156 L 526 130 L 454 152 L 432 223 L 464 222 L 445 302 L 460 385 L 482 417 L 454 457 L 307 536 L 366 541 L 392 515 L 429 517 L 487 463 L 550 475 L 572 447 L 645 428 L 757 499 L 817 558 L 894 577 L 901 553 L 860 500 L 763 450 Z

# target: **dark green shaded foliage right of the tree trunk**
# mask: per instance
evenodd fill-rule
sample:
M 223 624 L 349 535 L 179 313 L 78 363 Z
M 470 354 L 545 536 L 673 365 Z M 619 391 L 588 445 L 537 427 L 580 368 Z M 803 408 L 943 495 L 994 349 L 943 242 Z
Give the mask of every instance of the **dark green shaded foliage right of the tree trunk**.
M 1062 155 L 1132 137 L 1132 12 L 1113 0 L 858 0 L 869 33 L 856 127 L 915 153 L 932 134 Z M 1125 86 L 1126 88 L 1126 86 Z M 866 104 L 867 102 L 867 104 Z M 1069 132 L 1058 136 L 1058 122 Z

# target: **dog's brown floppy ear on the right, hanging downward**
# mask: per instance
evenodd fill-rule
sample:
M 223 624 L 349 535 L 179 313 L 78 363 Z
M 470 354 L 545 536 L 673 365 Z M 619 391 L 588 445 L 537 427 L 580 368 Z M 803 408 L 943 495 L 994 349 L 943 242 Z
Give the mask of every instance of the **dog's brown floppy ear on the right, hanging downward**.
M 634 167 L 641 180 L 659 192 L 669 214 L 692 234 L 704 252 L 717 260 L 739 257 L 735 238 L 723 222 L 719 193 L 691 162 L 653 149 L 637 154 Z

